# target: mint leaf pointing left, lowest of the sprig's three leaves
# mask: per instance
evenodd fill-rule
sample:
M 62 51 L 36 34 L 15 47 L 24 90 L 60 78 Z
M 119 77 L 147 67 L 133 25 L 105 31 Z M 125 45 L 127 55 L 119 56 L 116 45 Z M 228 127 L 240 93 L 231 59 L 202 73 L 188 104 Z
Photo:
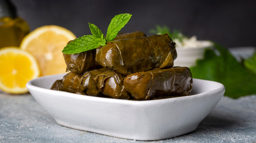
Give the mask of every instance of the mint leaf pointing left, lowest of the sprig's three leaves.
M 97 38 L 93 35 L 85 35 L 67 44 L 62 52 L 65 54 L 77 54 L 95 49 L 100 46 L 102 42 L 104 41 L 101 38 Z

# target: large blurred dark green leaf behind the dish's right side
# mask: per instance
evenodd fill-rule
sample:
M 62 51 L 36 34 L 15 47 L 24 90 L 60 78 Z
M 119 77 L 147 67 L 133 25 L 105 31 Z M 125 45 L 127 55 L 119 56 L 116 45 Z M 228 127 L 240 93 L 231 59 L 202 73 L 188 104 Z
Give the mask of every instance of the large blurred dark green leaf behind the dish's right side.
M 193 78 L 222 83 L 226 88 L 224 95 L 231 98 L 256 94 L 256 74 L 245 69 L 224 47 L 215 44 L 215 48 L 219 56 L 207 49 L 204 59 L 190 68 Z

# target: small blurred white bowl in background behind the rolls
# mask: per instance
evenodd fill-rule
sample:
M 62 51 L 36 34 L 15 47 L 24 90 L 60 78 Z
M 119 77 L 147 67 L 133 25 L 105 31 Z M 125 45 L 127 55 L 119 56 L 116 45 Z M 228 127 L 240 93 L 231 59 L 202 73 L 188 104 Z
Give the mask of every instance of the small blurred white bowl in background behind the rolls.
M 182 47 L 176 46 L 177 58 L 174 60 L 174 66 L 193 67 L 196 66 L 198 59 L 203 59 L 205 49 L 212 49 L 213 44 L 209 41 L 202 42 L 201 47 Z

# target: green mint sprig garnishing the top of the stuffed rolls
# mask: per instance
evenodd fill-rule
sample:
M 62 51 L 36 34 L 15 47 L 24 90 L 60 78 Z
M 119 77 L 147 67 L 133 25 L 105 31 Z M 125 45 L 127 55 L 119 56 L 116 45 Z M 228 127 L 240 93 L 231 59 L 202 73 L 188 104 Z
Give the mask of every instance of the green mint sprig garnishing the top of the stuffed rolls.
M 117 33 L 128 23 L 131 16 L 131 14 L 127 13 L 116 15 L 108 26 L 106 38 L 96 25 L 89 23 L 93 35 L 84 35 L 71 41 L 64 47 L 62 52 L 65 54 L 77 54 L 96 49 L 100 45 L 105 46 L 107 41 L 112 41 L 117 37 Z

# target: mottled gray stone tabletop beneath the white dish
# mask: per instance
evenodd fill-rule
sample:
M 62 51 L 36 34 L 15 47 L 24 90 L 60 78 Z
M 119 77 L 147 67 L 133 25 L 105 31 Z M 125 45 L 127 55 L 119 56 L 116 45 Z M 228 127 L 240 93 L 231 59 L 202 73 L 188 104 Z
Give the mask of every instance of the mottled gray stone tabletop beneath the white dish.
M 223 97 L 194 132 L 158 141 L 136 141 L 64 127 L 31 96 L 0 91 L 0 143 L 256 143 L 256 95 Z

